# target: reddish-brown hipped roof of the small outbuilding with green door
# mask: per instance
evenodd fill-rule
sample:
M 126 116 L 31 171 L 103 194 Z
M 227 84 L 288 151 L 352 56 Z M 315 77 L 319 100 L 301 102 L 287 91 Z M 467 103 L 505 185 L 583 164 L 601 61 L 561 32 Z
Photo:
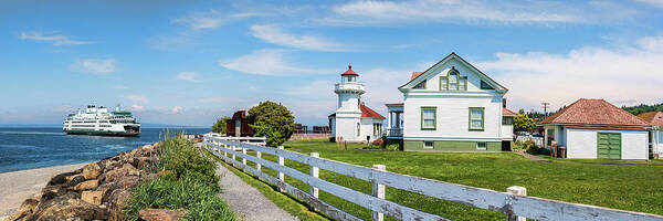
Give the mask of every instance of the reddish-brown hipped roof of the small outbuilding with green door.
M 581 98 L 539 124 L 648 126 L 648 123 L 604 99 Z

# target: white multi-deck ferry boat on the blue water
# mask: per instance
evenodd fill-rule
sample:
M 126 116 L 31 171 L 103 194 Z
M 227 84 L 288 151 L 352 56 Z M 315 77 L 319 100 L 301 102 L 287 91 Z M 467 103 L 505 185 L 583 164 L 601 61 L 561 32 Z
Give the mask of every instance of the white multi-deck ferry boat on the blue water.
M 70 135 L 139 136 L 140 123 L 119 106 L 108 112 L 106 107 L 90 105 L 85 112 L 78 109 L 66 116 L 62 130 Z

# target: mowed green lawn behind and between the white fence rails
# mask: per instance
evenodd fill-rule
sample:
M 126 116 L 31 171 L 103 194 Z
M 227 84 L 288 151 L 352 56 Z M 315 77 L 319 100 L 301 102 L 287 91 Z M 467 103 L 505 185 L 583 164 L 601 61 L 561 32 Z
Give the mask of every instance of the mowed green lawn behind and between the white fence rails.
M 527 188 L 529 196 L 586 203 L 639 212 L 663 214 L 663 167 L 645 165 L 601 165 L 586 160 L 536 162 L 512 152 L 446 154 L 382 150 L 337 150 L 326 140 L 288 141 L 286 149 L 302 154 L 319 152 L 322 158 L 371 167 L 386 165 L 387 170 L 472 187 L 506 191 L 511 186 Z M 254 155 L 254 154 L 252 154 Z M 274 156 L 263 158 L 276 161 Z M 241 160 L 241 158 L 238 158 Z M 610 162 L 619 162 L 610 161 Z M 630 162 L 630 161 L 629 161 Z M 654 161 L 655 164 L 660 161 Z M 308 172 L 308 166 L 286 159 L 286 166 Z M 645 162 L 648 164 L 648 162 Z M 253 165 L 253 164 L 250 164 Z M 263 167 L 264 168 L 264 167 Z M 275 171 L 264 169 L 275 176 Z M 320 178 L 370 193 L 370 183 L 320 170 Z M 308 190 L 308 186 L 286 177 L 286 182 Z M 320 199 L 345 211 L 370 220 L 370 211 L 320 190 Z M 387 189 L 387 199 L 454 220 L 504 220 L 503 213 L 444 200 Z M 292 213 L 292 211 L 288 211 Z

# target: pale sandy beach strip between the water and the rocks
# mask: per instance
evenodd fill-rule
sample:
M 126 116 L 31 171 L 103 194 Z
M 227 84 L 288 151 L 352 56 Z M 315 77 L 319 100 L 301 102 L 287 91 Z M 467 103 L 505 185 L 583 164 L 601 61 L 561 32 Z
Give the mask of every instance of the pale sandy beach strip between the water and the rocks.
M 11 215 L 25 199 L 41 191 L 53 176 L 74 171 L 87 164 L 90 162 L 0 173 L 0 221 Z

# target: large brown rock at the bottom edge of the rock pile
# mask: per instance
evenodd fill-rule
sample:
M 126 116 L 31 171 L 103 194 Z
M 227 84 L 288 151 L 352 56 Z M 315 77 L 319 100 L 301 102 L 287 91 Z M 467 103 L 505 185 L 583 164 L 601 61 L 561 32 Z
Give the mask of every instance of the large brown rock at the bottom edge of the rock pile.
M 106 220 L 108 218 L 106 210 L 77 197 L 75 192 L 67 192 L 41 203 L 25 220 Z

